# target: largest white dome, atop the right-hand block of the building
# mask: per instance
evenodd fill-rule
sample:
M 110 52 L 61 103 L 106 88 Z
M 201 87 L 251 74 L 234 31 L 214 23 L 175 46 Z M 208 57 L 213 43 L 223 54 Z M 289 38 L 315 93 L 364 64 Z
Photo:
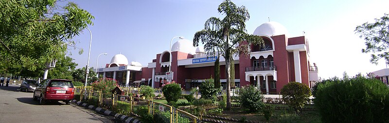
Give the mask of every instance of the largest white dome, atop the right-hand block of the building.
M 267 36 L 276 36 L 276 35 L 289 35 L 286 28 L 278 22 L 270 21 L 262 24 L 261 26 L 255 29 L 254 35 L 267 35 Z

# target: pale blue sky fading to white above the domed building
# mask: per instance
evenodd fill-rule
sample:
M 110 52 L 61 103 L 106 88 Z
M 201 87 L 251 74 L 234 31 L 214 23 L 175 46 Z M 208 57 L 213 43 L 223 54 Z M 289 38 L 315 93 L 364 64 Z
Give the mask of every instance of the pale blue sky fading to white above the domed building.
M 95 17 L 92 32 L 89 66 L 105 67 L 116 54 L 123 54 L 128 62 L 147 63 L 156 54 L 169 50 L 170 40 L 183 36 L 193 40 L 196 31 L 204 29 L 205 21 L 223 18 L 217 12 L 222 0 L 69 0 Z M 365 41 L 355 34 L 355 27 L 389 13 L 389 0 L 232 0 L 246 6 L 250 19 L 246 30 L 253 33 L 261 24 L 281 23 L 289 37 L 306 36 L 309 40 L 310 60 L 317 63 L 321 78 L 342 77 L 358 73 L 366 75 L 387 68 L 385 61 L 372 64 L 370 53 L 362 53 Z M 303 31 L 305 33 L 303 33 Z M 73 38 L 84 50 L 69 47 L 68 55 L 78 63 L 88 62 L 90 34 L 88 30 Z M 176 38 L 174 42 L 176 42 Z M 172 44 L 173 44 L 172 43 Z

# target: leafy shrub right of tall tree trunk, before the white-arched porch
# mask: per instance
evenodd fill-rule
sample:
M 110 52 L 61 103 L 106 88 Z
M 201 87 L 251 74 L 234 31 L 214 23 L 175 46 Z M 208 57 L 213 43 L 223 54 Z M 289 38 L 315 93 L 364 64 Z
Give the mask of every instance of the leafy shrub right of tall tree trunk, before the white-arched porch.
M 252 85 L 242 87 L 239 97 L 241 106 L 248 109 L 249 112 L 258 112 L 265 105 L 262 101 L 263 95 L 261 94 L 261 90 Z

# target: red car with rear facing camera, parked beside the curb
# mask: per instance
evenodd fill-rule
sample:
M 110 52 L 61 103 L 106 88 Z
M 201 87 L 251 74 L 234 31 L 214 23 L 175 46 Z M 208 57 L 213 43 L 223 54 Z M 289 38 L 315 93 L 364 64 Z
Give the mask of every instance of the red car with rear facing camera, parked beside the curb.
M 39 100 L 40 105 L 47 101 L 63 101 L 70 104 L 74 98 L 74 87 L 71 80 L 66 79 L 44 79 L 36 87 L 33 100 Z

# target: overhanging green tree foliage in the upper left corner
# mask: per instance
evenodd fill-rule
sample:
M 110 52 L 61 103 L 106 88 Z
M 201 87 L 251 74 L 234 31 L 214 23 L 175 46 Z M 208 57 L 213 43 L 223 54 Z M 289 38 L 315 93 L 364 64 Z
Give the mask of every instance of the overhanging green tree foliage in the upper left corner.
M 76 4 L 57 0 L 0 0 L 0 68 L 34 71 L 64 57 L 65 42 L 94 17 Z

